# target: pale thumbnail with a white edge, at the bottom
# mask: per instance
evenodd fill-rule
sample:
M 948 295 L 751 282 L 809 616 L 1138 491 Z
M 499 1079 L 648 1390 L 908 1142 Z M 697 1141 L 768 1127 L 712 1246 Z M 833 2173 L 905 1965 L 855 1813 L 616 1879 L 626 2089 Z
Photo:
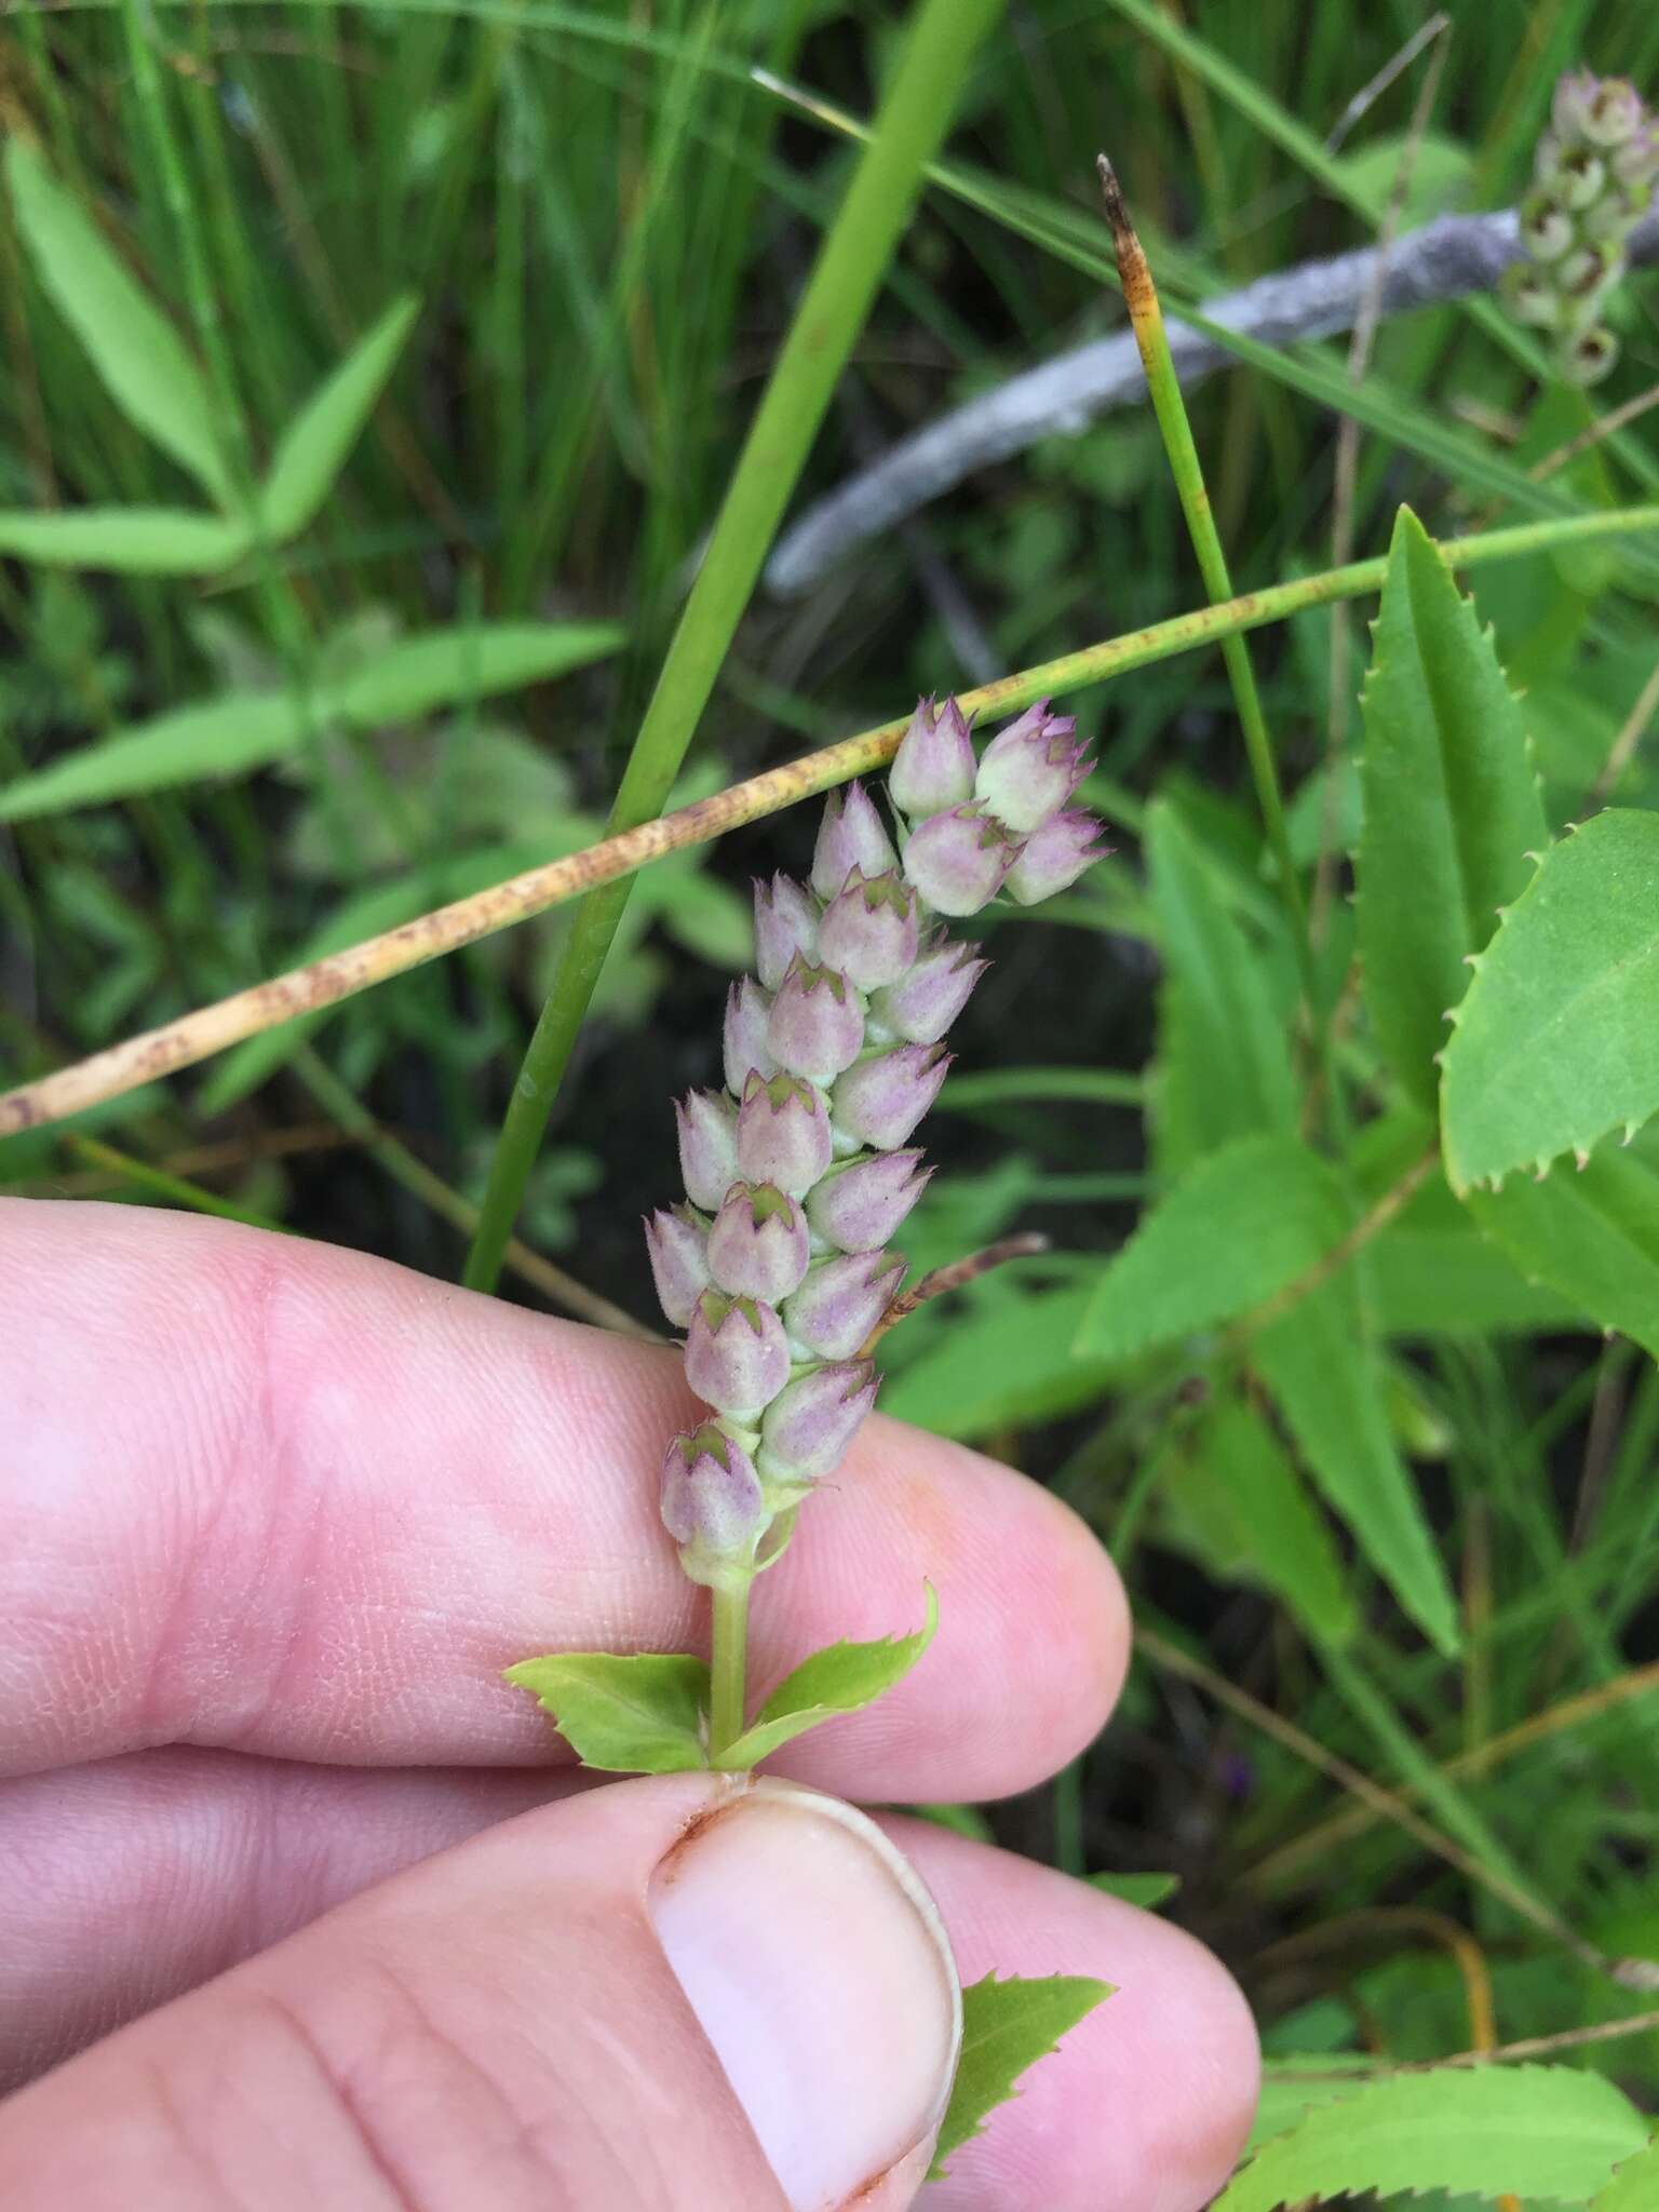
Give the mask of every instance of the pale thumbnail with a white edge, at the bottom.
M 759 1781 L 664 1860 L 650 1916 L 792 2212 L 876 2208 L 889 2174 L 909 2203 L 962 1997 L 938 1909 L 874 1820 Z

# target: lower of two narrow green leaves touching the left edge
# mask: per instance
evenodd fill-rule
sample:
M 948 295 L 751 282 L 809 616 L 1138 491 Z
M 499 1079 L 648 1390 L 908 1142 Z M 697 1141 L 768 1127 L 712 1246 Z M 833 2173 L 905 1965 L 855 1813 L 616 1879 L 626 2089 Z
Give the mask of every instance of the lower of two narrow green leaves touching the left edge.
M 305 717 L 288 692 L 226 692 L 157 714 L 0 790 L 0 821 L 95 807 L 133 792 L 263 768 L 305 741 Z

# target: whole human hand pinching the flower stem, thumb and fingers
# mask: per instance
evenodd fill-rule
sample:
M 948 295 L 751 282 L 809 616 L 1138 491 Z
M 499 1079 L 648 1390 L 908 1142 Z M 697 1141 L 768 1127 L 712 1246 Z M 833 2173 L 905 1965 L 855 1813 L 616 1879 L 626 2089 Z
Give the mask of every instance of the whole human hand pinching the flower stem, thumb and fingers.
M 560 1770 L 500 1681 L 692 1639 L 655 1520 L 672 1354 L 312 1243 L 0 1201 L 0 1407 L 7 2212 L 911 2203 L 949 2006 L 876 1845 L 774 1783 Z M 768 1575 L 757 1688 L 907 1619 L 925 1575 L 925 1663 L 781 1772 L 984 1798 L 1102 1725 L 1128 1648 L 1104 1553 L 883 1420 Z M 1117 1984 L 927 2212 L 1194 2212 L 1256 2084 L 1217 1962 L 883 1827 L 964 1982 Z

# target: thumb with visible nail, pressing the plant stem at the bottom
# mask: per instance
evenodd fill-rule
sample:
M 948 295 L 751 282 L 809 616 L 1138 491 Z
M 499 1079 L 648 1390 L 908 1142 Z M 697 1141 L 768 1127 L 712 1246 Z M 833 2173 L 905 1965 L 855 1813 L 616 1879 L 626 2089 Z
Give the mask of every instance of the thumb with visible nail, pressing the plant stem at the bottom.
M 863 1814 L 664 1776 L 365 1891 L 0 2108 L 7 2212 L 900 2212 L 960 2039 Z

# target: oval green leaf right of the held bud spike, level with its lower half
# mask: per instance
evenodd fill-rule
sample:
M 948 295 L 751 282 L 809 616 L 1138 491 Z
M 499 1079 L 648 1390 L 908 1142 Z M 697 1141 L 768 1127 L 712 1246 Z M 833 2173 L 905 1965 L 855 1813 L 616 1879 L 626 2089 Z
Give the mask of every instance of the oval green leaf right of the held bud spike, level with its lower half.
M 1159 1199 L 1106 1265 L 1077 1352 L 1128 1358 L 1248 1314 L 1340 1243 L 1343 1197 L 1298 1137 L 1239 1137 Z

